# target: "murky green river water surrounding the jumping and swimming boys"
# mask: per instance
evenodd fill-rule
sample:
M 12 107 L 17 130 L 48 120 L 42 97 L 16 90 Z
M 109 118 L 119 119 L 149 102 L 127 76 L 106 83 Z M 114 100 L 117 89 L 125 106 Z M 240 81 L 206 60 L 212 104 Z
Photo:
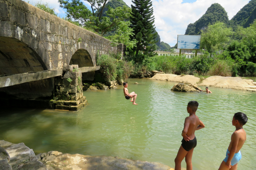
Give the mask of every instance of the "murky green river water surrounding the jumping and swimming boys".
M 244 126 L 247 141 L 241 149 L 238 169 L 256 169 L 256 92 L 209 87 L 212 94 L 181 93 L 170 90 L 174 84 L 128 79 L 129 92 L 138 94 L 137 106 L 125 99 L 123 87 L 118 86 L 108 91 L 84 92 L 88 105 L 77 112 L 1 108 L 0 140 L 23 142 L 36 154 L 57 150 L 174 167 L 184 119 L 189 115 L 187 103 L 197 100 L 197 115 L 206 127 L 195 133 L 193 169 L 218 169 L 235 130 L 231 121 L 236 112 L 248 116 Z M 182 167 L 186 167 L 185 159 Z

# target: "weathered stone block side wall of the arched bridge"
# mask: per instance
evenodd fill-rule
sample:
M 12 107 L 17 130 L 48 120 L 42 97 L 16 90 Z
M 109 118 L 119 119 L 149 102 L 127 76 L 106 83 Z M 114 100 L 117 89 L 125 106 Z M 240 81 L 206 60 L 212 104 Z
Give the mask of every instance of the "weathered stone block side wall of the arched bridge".
M 1 37 L 9 37 L 27 44 L 40 56 L 48 70 L 69 65 L 71 57 L 79 49 L 86 50 L 90 55 L 93 63 L 90 66 L 96 66 L 97 53 L 123 52 L 124 48 L 111 46 L 108 39 L 24 1 L 0 0 L 0 9 L 0 41 Z M 2 43 L 0 51 L 8 53 L 4 46 L 12 45 Z

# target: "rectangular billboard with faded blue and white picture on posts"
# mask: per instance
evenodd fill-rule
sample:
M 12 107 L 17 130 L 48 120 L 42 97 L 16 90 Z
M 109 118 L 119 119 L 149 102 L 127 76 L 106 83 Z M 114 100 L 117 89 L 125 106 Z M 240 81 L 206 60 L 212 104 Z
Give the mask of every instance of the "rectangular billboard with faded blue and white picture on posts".
M 201 35 L 178 35 L 177 49 L 200 49 Z

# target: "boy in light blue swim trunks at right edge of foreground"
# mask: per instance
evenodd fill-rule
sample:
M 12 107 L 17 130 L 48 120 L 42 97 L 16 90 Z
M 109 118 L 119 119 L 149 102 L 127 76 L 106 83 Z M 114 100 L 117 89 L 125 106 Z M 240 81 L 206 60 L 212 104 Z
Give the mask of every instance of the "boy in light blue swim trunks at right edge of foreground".
M 246 124 L 247 120 L 246 114 L 242 112 L 234 114 L 232 125 L 236 127 L 236 130 L 231 135 L 231 142 L 226 152 L 226 158 L 220 164 L 219 170 L 237 169 L 237 164 L 242 158 L 240 149 L 246 141 L 246 133 L 243 129 L 243 125 Z

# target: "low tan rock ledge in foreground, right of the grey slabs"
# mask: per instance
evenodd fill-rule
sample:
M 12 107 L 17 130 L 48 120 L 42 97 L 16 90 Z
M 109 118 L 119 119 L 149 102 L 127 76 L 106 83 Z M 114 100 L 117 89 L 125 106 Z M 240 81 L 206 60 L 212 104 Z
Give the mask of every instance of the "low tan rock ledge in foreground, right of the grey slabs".
M 86 156 L 80 154 L 62 154 L 50 151 L 41 154 L 41 162 L 48 170 L 168 170 L 171 167 L 157 163 L 140 160 L 122 159 L 112 156 Z

